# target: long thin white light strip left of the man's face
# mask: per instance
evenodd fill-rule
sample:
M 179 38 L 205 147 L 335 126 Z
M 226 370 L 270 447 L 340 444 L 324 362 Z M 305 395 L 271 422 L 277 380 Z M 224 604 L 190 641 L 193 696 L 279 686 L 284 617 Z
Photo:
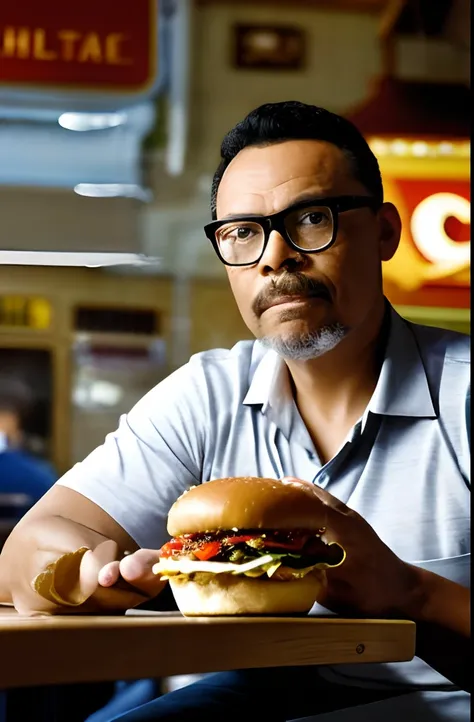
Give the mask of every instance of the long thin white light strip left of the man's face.
M 0 251 L 0 265 L 8 266 L 159 266 L 160 258 L 140 253 L 88 253 L 70 251 Z

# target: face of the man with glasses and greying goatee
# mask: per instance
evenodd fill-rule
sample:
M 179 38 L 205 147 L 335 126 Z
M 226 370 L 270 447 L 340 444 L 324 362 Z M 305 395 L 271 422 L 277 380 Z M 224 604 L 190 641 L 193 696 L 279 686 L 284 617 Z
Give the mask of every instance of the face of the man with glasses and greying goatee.
M 331 143 L 305 140 L 251 147 L 241 151 L 224 173 L 217 218 L 266 216 L 302 199 L 345 195 L 368 195 L 368 191 L 354 178 L 343 152 Z M 322 253 L 299 253 L 272 232 L 258 263 L 226 266 L 248 328 L 280 351 L 298 347 L 302 338 L 329 332 L 334 338 L 323 340 L 320 352 L 330 350 L 380 310 L 381 261 L 395 252 L 399 232 L 398 214 L 390 204 L 377 214 L 370 208 L 340 213 L 336 240 Z M 285 292 L 281 295 L 298 297 L 267 308 L 268 298 L 278 300 L 279 284 Z M 305 289 L 314 290 L 315 284 L 321 293 L 310 295 Z M 291 357 L 291 351 L 287 355 Z

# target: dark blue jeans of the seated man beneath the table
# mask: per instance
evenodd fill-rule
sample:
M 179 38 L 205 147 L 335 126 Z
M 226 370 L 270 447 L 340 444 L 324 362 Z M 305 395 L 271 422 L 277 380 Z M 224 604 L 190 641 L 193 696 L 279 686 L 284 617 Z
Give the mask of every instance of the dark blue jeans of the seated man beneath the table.
M 245 669 L 209 675 L 107 722 L 286 722 L 398 694 L 331 684 L 317 667 Z

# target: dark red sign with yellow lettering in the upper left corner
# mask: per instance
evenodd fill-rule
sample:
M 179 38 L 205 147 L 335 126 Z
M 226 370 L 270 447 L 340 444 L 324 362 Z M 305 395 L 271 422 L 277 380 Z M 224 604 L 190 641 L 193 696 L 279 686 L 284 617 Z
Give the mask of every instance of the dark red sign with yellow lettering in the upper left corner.
M 156 78 L 157 0 L 21 0 L 0 13 L 0 85 L 138 92 Z

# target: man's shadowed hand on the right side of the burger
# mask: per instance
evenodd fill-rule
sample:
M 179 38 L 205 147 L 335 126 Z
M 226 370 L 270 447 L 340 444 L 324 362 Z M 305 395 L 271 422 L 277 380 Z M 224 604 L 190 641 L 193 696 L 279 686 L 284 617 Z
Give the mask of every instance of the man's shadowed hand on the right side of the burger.
M 318 602 L 338 613 L 410 616 L 418 593 L 416 570 L 397 557 L 360 514 L 332 494 L 293 477 L 282 482 L 313 490 L 325 519 L 323 541 L 338 542 L 346 550 L 344 563 L 327 570 L 327 593 Z

